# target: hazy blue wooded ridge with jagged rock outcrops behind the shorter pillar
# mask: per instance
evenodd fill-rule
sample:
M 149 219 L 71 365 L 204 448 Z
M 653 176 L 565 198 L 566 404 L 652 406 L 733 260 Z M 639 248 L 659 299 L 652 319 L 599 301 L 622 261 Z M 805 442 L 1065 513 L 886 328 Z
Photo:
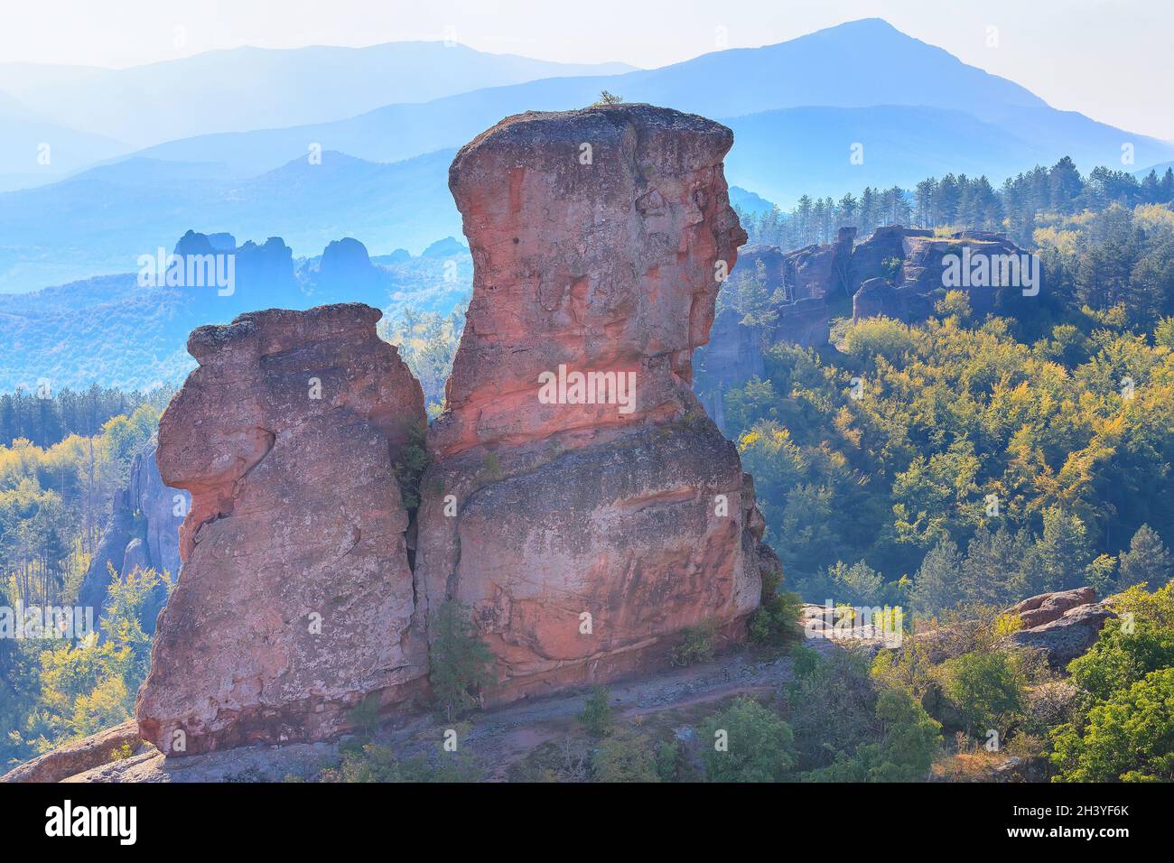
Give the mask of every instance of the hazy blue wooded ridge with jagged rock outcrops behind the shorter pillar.
M 163 245 L 181 256 L 232 252 L 232 290 L 144 285 L 140 272 L 123 271 L 33 294 L 0 294 L 0 391 L 33 390 L 41 378 L 55 390 L 85 389 L 94 380 L 127 390 L 177 384 L 194 366 L 185 344 L 201 324 L 225 324 L 256 309 L 338 302 L 391 313 L 406 304 L 447 313 L 468 302 L 472 285 L 468 249 L 451 237 L 427 255 L 398 250 L 375 259 L 353 237 L 332 241 L 309 259 L 296 259 L 278 236 L 254 241 L 188 230 Z

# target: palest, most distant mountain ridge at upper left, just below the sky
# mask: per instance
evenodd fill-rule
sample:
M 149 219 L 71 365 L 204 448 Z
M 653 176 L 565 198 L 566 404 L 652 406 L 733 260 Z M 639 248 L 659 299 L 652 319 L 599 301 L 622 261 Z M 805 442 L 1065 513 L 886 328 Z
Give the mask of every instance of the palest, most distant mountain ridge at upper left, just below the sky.
M 36 106 L 50 122 L 147 147 L 209 132 L 339 120 L 478 87 L 629 69 L 626 63 L 488 54 L 445 42 L 243 47 L 127 69 L 0 65 L 0 90 Z

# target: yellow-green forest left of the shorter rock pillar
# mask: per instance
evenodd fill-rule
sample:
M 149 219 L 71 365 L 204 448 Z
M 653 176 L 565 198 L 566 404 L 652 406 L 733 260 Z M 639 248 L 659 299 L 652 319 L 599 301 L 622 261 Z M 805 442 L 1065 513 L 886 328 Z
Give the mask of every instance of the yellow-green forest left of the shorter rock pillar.
M 12 423 L 6 427 L 33 431 L 46 444 L 26 437 L 0 444 L 0 608 L 76 602 L 112 495 L 156 432 L 154 402 L 166 393 L 90 395 L 4 397 Z M 114 410 L 128 412 L 108 416 Z M 76 432 L 94 427 L 87 424 L 96 431 Z M 149 652 L 139 612 L 160 578 L 139 573 L 115 580 L 101 645 L 0 638 L 0 762 L 31 757 L 130 715 Z M 15 614 L 0 622 L 13 627 Z

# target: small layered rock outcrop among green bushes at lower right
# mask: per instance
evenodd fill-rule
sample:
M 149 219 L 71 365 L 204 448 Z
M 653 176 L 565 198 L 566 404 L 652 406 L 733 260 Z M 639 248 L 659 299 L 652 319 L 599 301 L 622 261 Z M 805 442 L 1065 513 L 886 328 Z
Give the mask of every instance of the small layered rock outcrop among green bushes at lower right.
M 1019 615 L 1021 629 L 1011 643 L 1043 650 L 1048 662 L 1064 667 L 1095 643 L 1105 621 L 1116 615 L 1106 602 L 1097 601 L 1091 587 L 1041 593 L 1006 611 Z

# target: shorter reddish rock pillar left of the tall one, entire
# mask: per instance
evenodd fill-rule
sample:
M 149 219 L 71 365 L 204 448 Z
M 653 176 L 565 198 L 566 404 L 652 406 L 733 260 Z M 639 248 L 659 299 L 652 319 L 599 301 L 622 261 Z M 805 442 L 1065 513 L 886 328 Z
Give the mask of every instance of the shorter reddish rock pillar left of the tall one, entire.
M 393 468 L 424 398 L 379 317 L 269 310 L 188 341 L 157 452 L 191 492 L 183 575 L 136 707 L 164 753 L 329 737 L 426 673 Z

